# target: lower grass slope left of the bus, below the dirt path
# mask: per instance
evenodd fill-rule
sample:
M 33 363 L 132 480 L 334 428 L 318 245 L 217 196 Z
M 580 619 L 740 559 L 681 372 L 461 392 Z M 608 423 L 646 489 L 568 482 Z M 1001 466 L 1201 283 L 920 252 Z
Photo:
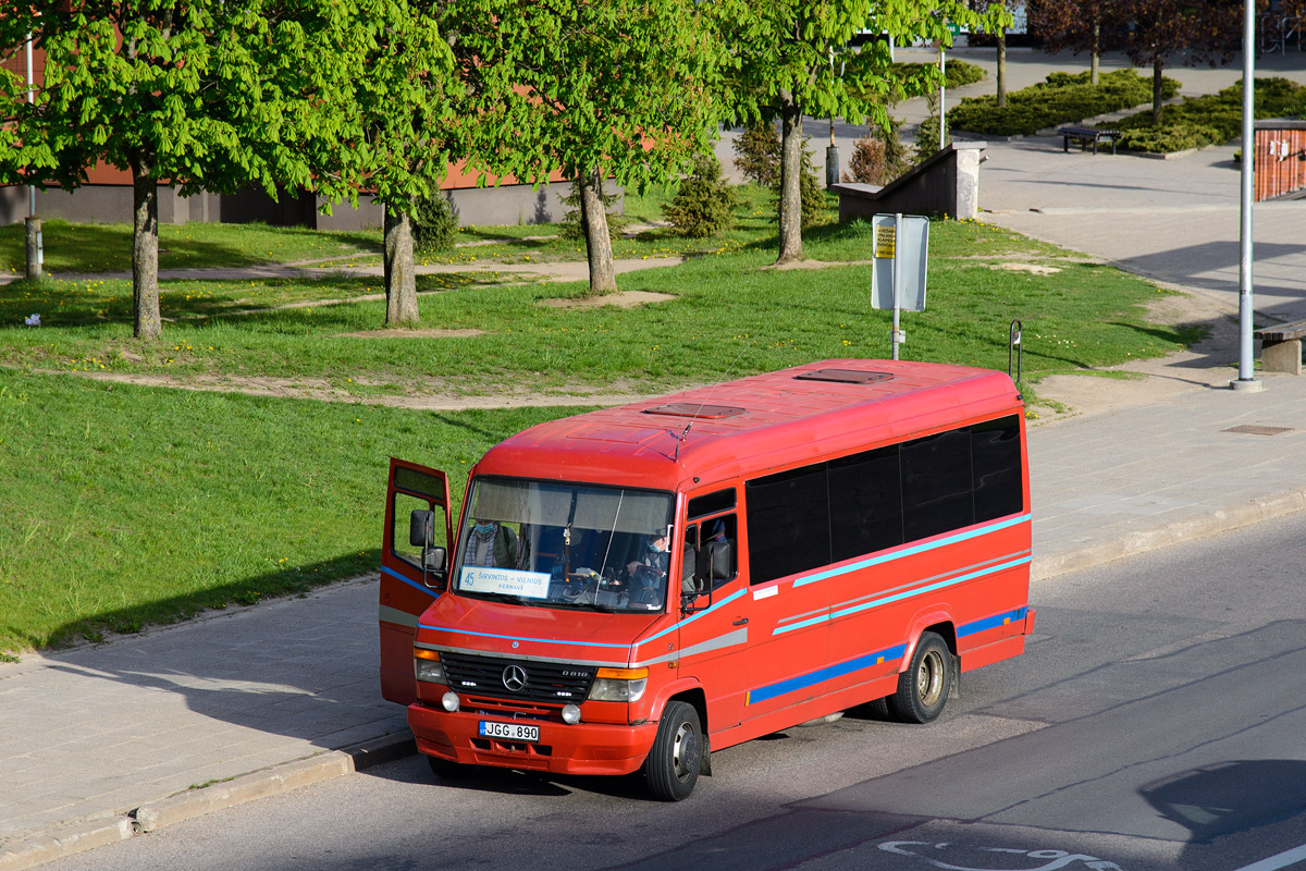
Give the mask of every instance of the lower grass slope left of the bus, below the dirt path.
M 572 409 L 435 414 L 0 370 L 0 650 L 372 571 L 388 457 L 453 477 Z

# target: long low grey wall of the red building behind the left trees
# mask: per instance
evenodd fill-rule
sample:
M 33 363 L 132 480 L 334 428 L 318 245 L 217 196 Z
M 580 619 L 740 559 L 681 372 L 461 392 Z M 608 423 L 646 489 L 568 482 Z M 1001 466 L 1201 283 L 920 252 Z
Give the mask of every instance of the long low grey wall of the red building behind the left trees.
M 609 180 L 603 189 L 616 195 L 613 209 L 624 209 L 622 188 Z M 444 191 L 461 225 L 554 223 L 567 212 L 562 197 L 569 184 L 542 185 L 504 184 L 486 188 L 451 188 Z M 381 206 L 370 196 L 360 196 L 358 206 L 338 204 L 326 215 L 319 210 L 321 200 L 310 193 L 282 195 L 273 200 L 259 189 L 234 195 L 199 193 L 178 196 L 171 188 L 159 187 L 159 222 L 251 223 L 261 221 L 273 226 L 302 226 L 319 230 L 362 230 L 381 226 Z M 0 225 L 20 223 L 27 217 L 27 188 L 0 188 Z M 127 185 L 88 184 L 76 191 L 38 191 L 37 214 L 43 219 L 91 223 L 131 223 L 132 188 Z

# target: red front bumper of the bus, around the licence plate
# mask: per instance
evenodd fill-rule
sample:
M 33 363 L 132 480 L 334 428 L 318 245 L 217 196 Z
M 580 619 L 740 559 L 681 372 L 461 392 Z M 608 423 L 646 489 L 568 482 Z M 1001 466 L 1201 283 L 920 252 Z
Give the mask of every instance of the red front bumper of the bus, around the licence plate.
M 575 726 L 539 720 L 539 742 L 482 738 L 481 721 L 511 721 L 494 713 L 449 713 L 422 703 L 409 705 L 409 727 L 417 748 L 468 765 L 495 765 L 555 774 L 629 774 L 644 764 L 657 723 L 624 726 L 579 722 Z

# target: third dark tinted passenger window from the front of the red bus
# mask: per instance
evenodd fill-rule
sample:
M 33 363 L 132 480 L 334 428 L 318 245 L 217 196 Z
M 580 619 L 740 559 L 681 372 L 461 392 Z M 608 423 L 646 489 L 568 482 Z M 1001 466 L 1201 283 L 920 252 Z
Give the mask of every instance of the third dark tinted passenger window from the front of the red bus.
M 902 444 L 902 526 L 906 541 L 974 522 L 970 434 L 939 432 Z

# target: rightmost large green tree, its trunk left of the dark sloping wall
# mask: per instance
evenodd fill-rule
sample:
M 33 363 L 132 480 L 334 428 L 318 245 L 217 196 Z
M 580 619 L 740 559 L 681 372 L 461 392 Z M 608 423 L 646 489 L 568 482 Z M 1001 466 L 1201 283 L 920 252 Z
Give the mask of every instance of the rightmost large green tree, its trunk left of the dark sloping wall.
M 781 121 L 780 253 L 801 260 L 803 115 L 837 115 L 850 124 L 867 118 L 889 124 L 887 106 L 904 94 L 938 87 L 938 67 L 905 77 L 893 72 L 888 44 L 833 52 L 861 31 L 885 33 L 899 44 L 916 39 L 951 44 L 946 22 L 995 29 L 1011 22 L 1004 9 L 974 12 L 965 0 L 738 0 L 721 7 L 738 55 L 735 112 Z M 842 73 L 842 74 L 841 74 Z

